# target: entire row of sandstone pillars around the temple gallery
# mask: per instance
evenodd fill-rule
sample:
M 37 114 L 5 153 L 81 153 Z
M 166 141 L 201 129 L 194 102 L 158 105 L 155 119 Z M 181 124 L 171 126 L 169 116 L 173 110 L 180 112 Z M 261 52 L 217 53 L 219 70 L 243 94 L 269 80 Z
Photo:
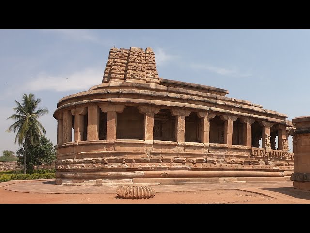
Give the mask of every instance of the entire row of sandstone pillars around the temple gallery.
M 88 112 L 87 140 L 99 139 L 99 116 L 100 110 L 107 113 L 107 140 L 116 139 L 117 113 L 123 112 L 125 105 L 91 105 L 87 107 L 74 108 L 58 113 L 58 137 L 57 144 L 72 141 L 72 115 L 74 116 L 74 140 L 83 140 L 84 115 Z M 144 114 L 144 140 L 153 140 L 154 114 L 160 111 L 157 107 L 138 106 L 140 113 Z M 172 116 L 176 118 L 176 141 L 183 144 L 185 141 L 185 117 L 189 116 L 189 110 L 171 109 Z M 210 119 L 216 114 L 208 112 L 198 112 L 197 116 L 202 119 L 202 143 L 209 143 Z M 237 120 L 236 116 L 221 115 L 220 118 L 224 123 L 224 144 L 233 144 L 233 121 Z M 244 124 L 243 127 L 243 145 L 251 147 L 252 124 L 253 119 L 240 118 Z M 260 124 L 262 130 L 262 148 L 268 148 L 270 145 L 270 122 L 262 121 Z M 278 125 L 279 150 L 282 150 L 283 139 L 286 139 L 284 125 Z M 269 136 L 269 138 L 268 138 Z M 269 140 L 269 141 L 268 141 Z

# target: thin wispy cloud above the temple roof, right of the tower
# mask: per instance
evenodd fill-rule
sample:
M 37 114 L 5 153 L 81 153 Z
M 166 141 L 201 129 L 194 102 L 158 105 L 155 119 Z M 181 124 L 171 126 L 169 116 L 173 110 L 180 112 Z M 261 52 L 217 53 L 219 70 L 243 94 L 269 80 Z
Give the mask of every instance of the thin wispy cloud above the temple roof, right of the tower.
M 227 75 L 233 77 L 249 77 L 252 76 L 249 73 L 240 72 L 238 68 L 223 68 L 223 67 L 215 67 L 210 64 L 191 64 L 191 68 L 193 69 L 204 69 L 210 72 L 220 74 L 220 75 Z

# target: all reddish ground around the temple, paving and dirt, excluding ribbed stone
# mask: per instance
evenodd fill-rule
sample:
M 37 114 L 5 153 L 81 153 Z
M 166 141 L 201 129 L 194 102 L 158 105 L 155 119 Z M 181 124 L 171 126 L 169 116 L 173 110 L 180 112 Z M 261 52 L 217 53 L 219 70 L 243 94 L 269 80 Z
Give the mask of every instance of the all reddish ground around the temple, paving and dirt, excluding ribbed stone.
M 286 182 L 152 185 L 148 200 L 119 200 L 116 186 L 61 186 L 53 179 L 0 183 L 0 203 L 310 203 L 310 191 Z

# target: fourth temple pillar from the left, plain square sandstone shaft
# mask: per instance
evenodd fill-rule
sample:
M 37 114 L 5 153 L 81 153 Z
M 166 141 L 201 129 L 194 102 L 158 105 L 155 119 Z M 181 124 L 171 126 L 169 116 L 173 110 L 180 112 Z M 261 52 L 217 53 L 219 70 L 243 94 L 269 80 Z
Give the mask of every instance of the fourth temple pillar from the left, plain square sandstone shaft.
M 97 105 L 88 107 L 87 140 L 99 140 L 100 110 Z

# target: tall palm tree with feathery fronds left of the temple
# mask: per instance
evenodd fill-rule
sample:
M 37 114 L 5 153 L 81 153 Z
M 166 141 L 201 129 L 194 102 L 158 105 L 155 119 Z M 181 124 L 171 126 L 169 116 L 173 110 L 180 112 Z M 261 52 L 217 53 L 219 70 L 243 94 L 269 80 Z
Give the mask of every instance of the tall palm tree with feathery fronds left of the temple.
M 30 93 L 23 95 L 21 100 L 22 104 L 15 100 L 17 105 L 16 108 L 13 108 L 16 114 L 13 114 L 7 119 L 15 120 L 15 123 L 12 124 L 7 132 L 16 132 L 16 138 L 14 143 L 18 142 L 20 146 L 24 144 L 25 156 L 24 156 L 24 174 L 26 174 L 26 156 L 27 156 L 27 146 L 35 145 L 39 142 L 39 138 L 42 135 L 41 131 L 46 134 L 44 127 L 38 121 L 40 116 L 43 116 L 48 113 L 47 108 L 39 108 L 37 107 L 41 102 L 41 99 L 38 98 L 35 100 L 34 94 Z

